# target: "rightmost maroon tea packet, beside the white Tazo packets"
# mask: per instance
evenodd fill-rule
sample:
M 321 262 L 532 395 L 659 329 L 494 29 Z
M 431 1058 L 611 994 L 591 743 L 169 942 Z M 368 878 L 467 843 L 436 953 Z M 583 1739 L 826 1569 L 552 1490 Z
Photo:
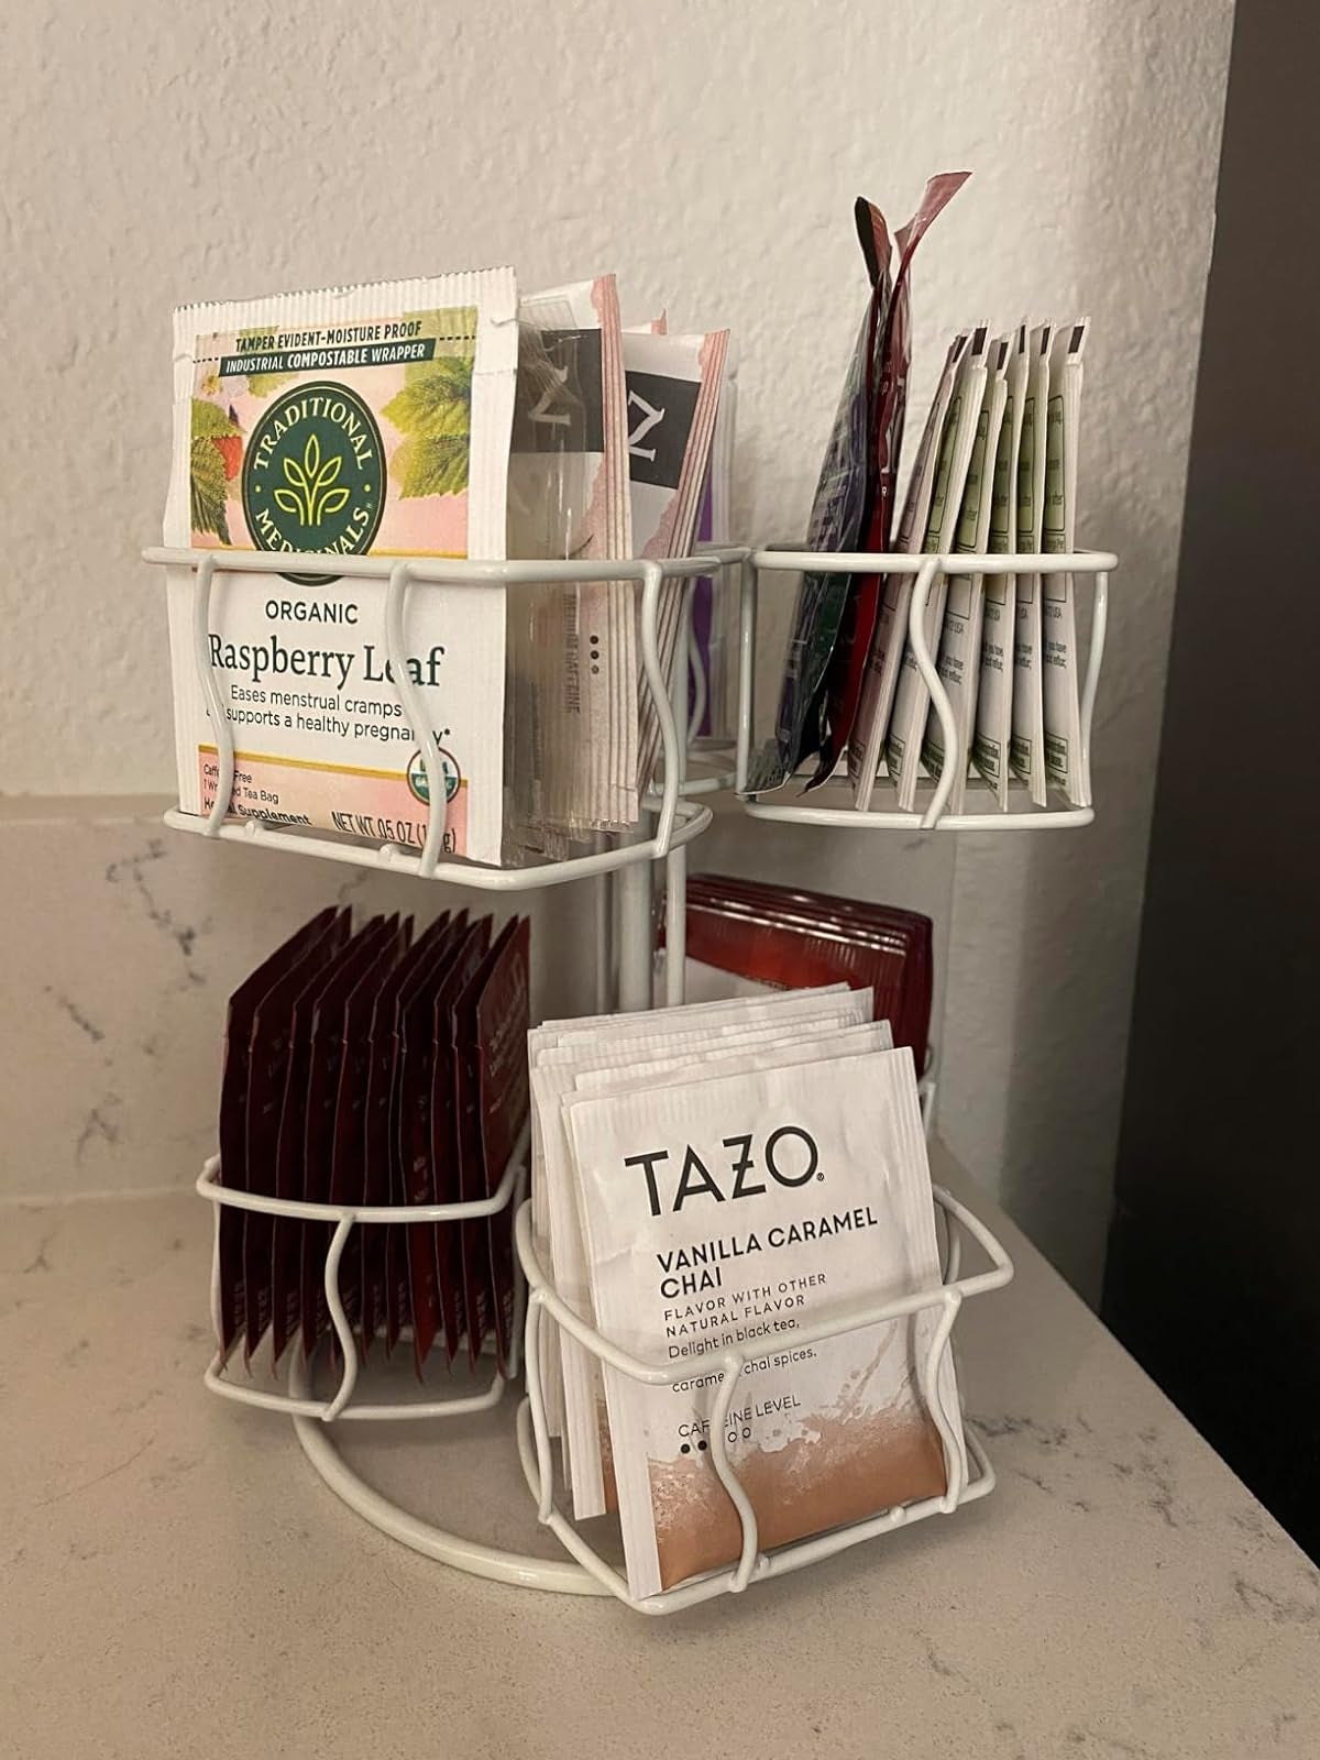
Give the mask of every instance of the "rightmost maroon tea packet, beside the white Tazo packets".
M 530 922 L 519 917 L 491 949 L 477 998 L 477 1112 L 482 1197 L 493 1197 L 528 1114 L 526 1035 Z M 514 1206 L 486 1223 L 495 1297 L 495 1355 L 507 1373 L 514 1334 Z

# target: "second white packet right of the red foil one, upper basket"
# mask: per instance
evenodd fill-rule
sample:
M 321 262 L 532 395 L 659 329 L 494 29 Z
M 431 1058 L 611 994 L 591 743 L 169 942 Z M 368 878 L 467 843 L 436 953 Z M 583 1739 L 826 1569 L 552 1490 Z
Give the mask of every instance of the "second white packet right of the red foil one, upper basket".
M 963 488 L 966 484 L 968 465 L 972 463 L 980 401 L 986 391 L 987 350 L 989 334 L 984 326 L 977 326 L 968 341 L 966 354 L 959 361 L 954 394 L 949 400 L 949 412 L 943 421 L 931 507 L 926 516 L 926 537 L 920 546 L 926 553 L 947 554 L 954 547 L 957 519 L 963 510 Z M 931 649 L 931 658 L 935 658 L 938 649 L 947 593 L 949 577 L 940 574 L 931 586 L 922 614 L 922 630 L 926 646 Z M 929 706 L 929 688 L 917 667 L 912 642 L 906 642 L 894 693 L 894 713 L 885 741 L 885 760 L 898 788 L 901 813 L 910 813 L 917 803 L 917 760 L 920 757 L 920 741 Z

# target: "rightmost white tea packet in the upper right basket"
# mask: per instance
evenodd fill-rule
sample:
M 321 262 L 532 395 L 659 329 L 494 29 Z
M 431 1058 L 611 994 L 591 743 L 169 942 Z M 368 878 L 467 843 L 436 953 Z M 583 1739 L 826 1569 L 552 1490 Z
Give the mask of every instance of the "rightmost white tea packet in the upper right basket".
M 1049 363 L 1049 415 L 1045 421 L 1045 507 L 1040 549 L 1068 554 L 1077 539 L 1077 431 L 1082 403 L 1082 350 L 1088 319 L 1054 338 Z M 1089 806 L 1089 780 L 1082 767 L 1082 723 L 1077 699 L 1077 612 L 1070 574 L 1040 577 L 1042 716 L 1045 771 L 1070 806 Z

